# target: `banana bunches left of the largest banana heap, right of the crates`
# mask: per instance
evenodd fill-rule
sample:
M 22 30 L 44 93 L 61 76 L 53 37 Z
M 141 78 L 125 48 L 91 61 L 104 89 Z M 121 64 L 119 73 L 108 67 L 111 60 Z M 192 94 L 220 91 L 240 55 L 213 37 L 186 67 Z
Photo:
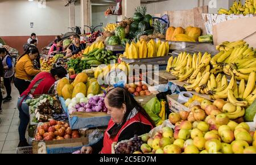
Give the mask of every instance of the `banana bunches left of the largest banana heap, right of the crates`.
M 188 54 L 187 52 L 182 52 L 179 54 L 178 57 L 171 57 L 168 60 L 167 72 L 171 72 L 172 75 L 175 75 L 179 81 L 185 81 L 188 79 L 188 83 L 195 83 L 198 81 L 196 78 L 201 77 L 209 77 L 210 75 L 210 54 L 207 52 L 202 53 L 199 52 L 198 54 L 194 53 Z M 205 79 L 205 78 L 204 78 Z M 208 81 L 208 79 L 207 79 Z M 207 81 L 202 81 L 200 83 L 201 86 L 207 83 Z M 199 83 L 199 82 L 198 82 Z M 187 90 L 193 90 L 194 87 L 187 87 Z M 195 90 L 195 89 L 194 89 Z

